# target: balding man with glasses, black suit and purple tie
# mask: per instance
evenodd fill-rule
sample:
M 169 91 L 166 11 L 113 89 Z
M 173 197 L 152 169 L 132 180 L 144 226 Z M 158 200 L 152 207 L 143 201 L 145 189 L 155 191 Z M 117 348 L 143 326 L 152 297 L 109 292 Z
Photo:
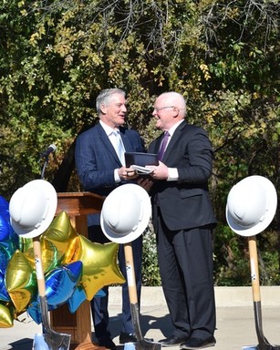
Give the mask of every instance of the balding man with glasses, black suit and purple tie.
M 213 149 L 206 132 L 184 120 L 186 104 L 178 93 L 156 99 L 156 128 L 168 132 L 167 146 L 153 170 L 153 225 L 157 234 L 161 283 L 174 331 L 163 346 L 199 349 L 215 344 L 213 246 L 215 225 L 207 181 Z M 151 142 L 159 153 L 163 135 Z

